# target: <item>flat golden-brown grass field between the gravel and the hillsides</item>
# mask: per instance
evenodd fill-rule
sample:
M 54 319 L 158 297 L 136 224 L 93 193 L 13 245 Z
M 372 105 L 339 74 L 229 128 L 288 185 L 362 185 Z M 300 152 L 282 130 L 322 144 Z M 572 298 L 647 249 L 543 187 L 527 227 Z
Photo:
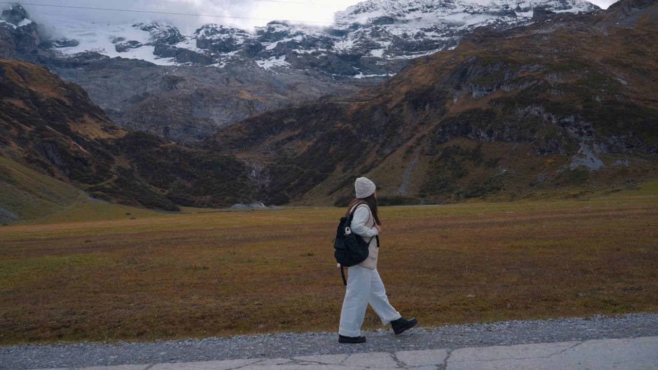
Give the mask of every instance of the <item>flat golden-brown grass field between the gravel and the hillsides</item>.
M 422 327 L 656 312 L 656 183 L 588 201 L 382 207 L 378 269 Z M 0 228 L 1 345 L 338 330 L 344 209 L 131 220 L 86 207 Z M 368 308 L 365 329 L 380 324 Z

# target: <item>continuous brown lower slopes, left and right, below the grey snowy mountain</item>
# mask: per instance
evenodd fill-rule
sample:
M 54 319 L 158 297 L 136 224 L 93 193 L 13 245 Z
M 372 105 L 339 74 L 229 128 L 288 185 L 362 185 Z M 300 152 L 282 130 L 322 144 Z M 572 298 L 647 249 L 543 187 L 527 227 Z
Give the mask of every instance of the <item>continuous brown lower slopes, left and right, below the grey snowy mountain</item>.
M 0 61 L 0 154 L 156 209 L 344 205 L 361 175 L 382 205 L 613 191 L 658 176 L 657 9 L 624 0 L 478 28 L 378 86 L 253 115 L 199 145 L 115 126 L 78 86 Z

